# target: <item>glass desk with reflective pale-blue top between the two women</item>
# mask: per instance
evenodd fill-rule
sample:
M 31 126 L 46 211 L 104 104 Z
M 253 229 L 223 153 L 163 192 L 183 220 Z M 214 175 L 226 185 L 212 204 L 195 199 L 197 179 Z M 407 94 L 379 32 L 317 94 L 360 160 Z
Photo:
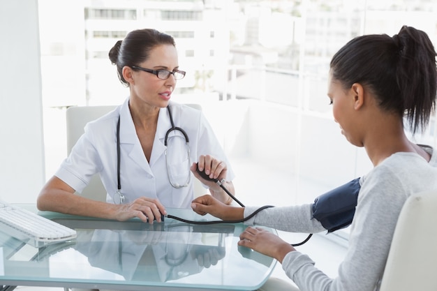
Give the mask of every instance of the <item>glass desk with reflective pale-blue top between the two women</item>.
M 0 290 L 18 285 L 112 290 L 257 290 L 276 260 L 237 246 L 243 223 L 193 225 L 165 218 L 149 225 L 41 216 L 74 228 L 77 238 L 41 248 L 0 232 Z M 191 221 L 216 220 L 191 209 L 168 209 Z M 271 230 L 276 232 L 275 230 Z

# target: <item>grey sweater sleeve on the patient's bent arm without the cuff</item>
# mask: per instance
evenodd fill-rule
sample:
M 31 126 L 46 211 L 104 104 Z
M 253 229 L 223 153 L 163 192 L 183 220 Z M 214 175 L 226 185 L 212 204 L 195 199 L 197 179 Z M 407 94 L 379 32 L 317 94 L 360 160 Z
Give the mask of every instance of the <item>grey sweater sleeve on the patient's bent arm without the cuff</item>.
M 329 278 L 307 256 L 292 251 L 282 267 L 301 291 L 369 291 L 377 289 L 387 260 L 397 217 L 408 188 L 399 177 L 377 167 L 366 178 L 358 197 L 346 258 L 339 276 Z

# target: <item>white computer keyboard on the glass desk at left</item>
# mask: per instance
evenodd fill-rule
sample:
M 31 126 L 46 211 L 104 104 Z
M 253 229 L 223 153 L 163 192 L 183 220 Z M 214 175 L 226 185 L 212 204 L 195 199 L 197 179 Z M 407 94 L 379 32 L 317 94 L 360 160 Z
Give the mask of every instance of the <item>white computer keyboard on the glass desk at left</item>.
M 36 248 L 75 239 L 77 235 L 69 227 L 1 201 L 0 231 Z

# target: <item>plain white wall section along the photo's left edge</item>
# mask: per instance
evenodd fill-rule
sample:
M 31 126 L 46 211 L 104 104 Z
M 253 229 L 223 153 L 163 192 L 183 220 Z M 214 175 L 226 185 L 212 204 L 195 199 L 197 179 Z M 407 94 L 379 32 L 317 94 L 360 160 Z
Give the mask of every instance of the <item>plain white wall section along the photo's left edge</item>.
M 45 181 L 38 1 L 0 1 L 0 36 L 0 199 L 35 202 Z

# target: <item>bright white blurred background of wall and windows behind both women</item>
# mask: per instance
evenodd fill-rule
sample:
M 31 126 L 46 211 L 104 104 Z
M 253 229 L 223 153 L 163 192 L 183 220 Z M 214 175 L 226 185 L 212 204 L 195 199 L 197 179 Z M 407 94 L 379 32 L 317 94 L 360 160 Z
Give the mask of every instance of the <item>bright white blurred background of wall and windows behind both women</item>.
M 432 0 L 20 0 L 0 3 L 2 200 L 34 203 L 66 158 L 66 108 L 118 105 L 108 58 L 134 29 L 171 34 L 186 70 L 172 100 L 199 103 L 246 205 L 310 203 L 371 169 L 333 121 L 327 73 L 355 36 L 402 25 L 436 45 Z M 436 119 L 416 142 L 436 147 Z M 340 244 L 348 230 L 335 233 Z

